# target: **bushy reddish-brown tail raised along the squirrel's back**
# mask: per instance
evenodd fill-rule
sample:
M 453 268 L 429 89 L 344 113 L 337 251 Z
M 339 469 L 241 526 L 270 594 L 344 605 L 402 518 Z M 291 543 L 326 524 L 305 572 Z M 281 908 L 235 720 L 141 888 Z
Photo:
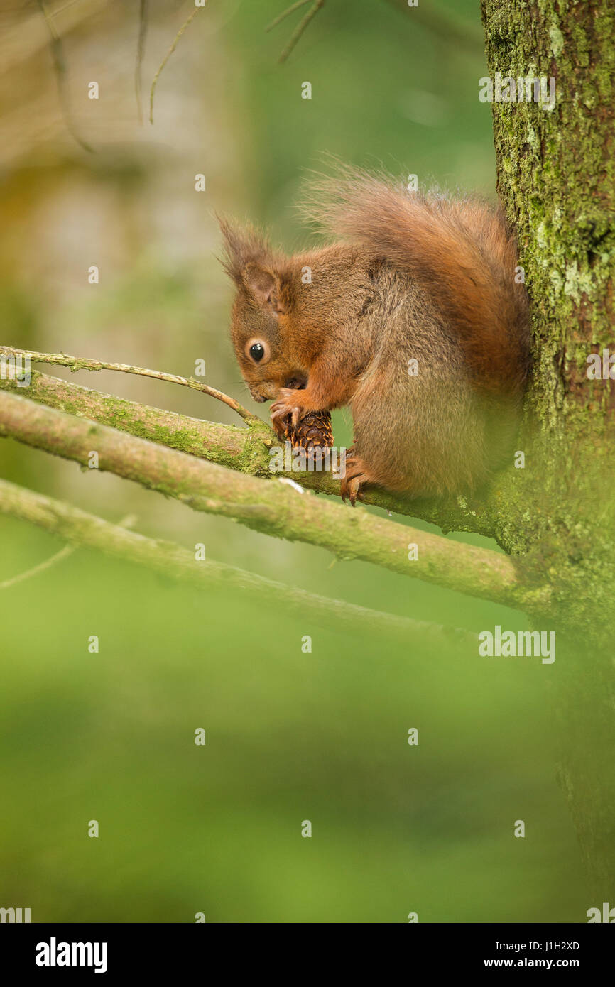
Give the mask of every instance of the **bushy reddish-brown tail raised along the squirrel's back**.
M 527 296 L 516 244 L 499 210 L 480 200 L 423 196 L 339 167 L 302 203 L 308 219 L 408 270 L 456 330 L 476 384 L 520 395 L 529 369 Z

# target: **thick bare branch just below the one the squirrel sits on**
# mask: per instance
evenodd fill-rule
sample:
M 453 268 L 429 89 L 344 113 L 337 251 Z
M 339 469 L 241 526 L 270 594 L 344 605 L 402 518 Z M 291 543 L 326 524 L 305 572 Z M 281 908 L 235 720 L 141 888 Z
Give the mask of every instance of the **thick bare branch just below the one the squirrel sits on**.
M 96 452 L 101 470 L 175 497 L 194 510 L 231 516 L 249 528 L 319 546 L 340 559 L 361 559 L 507 606 L 536 601 L 536 587 L 530 591 L 512 560 L 497 552 L 452 542 L 362 508 L 300 495 L 285 485 L 234 473 L 6 392 L 0 394 L 0 435 L 83 466 L 91 465 Z M 255 511 L 255 506 L 266 509 Z M 416 546 L 413 561 L 411 545 Z M 548 587 L 542 593 L 546 605 Z

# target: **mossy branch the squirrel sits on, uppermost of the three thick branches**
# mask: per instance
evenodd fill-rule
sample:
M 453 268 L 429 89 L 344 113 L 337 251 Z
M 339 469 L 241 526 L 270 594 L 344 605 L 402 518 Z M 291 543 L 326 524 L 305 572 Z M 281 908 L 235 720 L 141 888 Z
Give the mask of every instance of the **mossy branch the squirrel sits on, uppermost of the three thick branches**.
M 0 391 L 27 395 L 49 408 L 91 418 L 138 438 L 159 442 L 253 477 L 269 480 L 272 477 L 269 450 L 279 446 L 279 439 L 261 418 L 248 422 L 248 428 L 203 421 L 116 398 L 37 370 L 31 371 L 28 389 L 21 388 L 16 380 L 0 377 Z M 340 482 L 331 473 L 293 472 L 292 478 L 306 490 L 340 496 Z M 480 500 L 417 500 L 374 487 L 365 491 L 365 503 L 382 507 L 389 513 L 421 517 L 437 524 L 443 531 L 471 531 L 494 538 L 499 533 L 500 505 L 496 499 L 492 509 L 489 495 Z

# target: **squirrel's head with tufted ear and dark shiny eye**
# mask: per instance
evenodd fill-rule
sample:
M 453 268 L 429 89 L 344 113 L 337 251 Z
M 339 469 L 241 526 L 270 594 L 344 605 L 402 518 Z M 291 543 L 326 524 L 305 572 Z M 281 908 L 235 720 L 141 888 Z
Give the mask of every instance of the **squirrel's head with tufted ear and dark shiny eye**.
M 281 387 L 303 387 L 307 380 L 284 345 L 284 261 L 254 229 L 236 229 L 224 219 L 219 223 L 223 265 L 237 289 L 231 314 L 237 362 L 254 400 L 273 400 Z

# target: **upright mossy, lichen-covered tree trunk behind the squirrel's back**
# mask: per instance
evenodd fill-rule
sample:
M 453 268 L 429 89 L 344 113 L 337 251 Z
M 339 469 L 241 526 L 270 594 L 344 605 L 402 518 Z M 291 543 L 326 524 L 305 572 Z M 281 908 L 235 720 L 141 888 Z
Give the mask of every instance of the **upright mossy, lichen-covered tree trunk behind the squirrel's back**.
M 482 12 L 502 91 L 504 77 L 555 80 L 551 110 L 493 104 L 498 190 L 535 340 L 526 467 L 505 482 L 503 523 L 509 550 L 526 551 L 554 586 L 560 779 L 592 892 L 615 905 L 615 391 L 608 374 L 587 373 L 590 353 L 615 356 L 615 10 L 612 0 L 483 0 Z

